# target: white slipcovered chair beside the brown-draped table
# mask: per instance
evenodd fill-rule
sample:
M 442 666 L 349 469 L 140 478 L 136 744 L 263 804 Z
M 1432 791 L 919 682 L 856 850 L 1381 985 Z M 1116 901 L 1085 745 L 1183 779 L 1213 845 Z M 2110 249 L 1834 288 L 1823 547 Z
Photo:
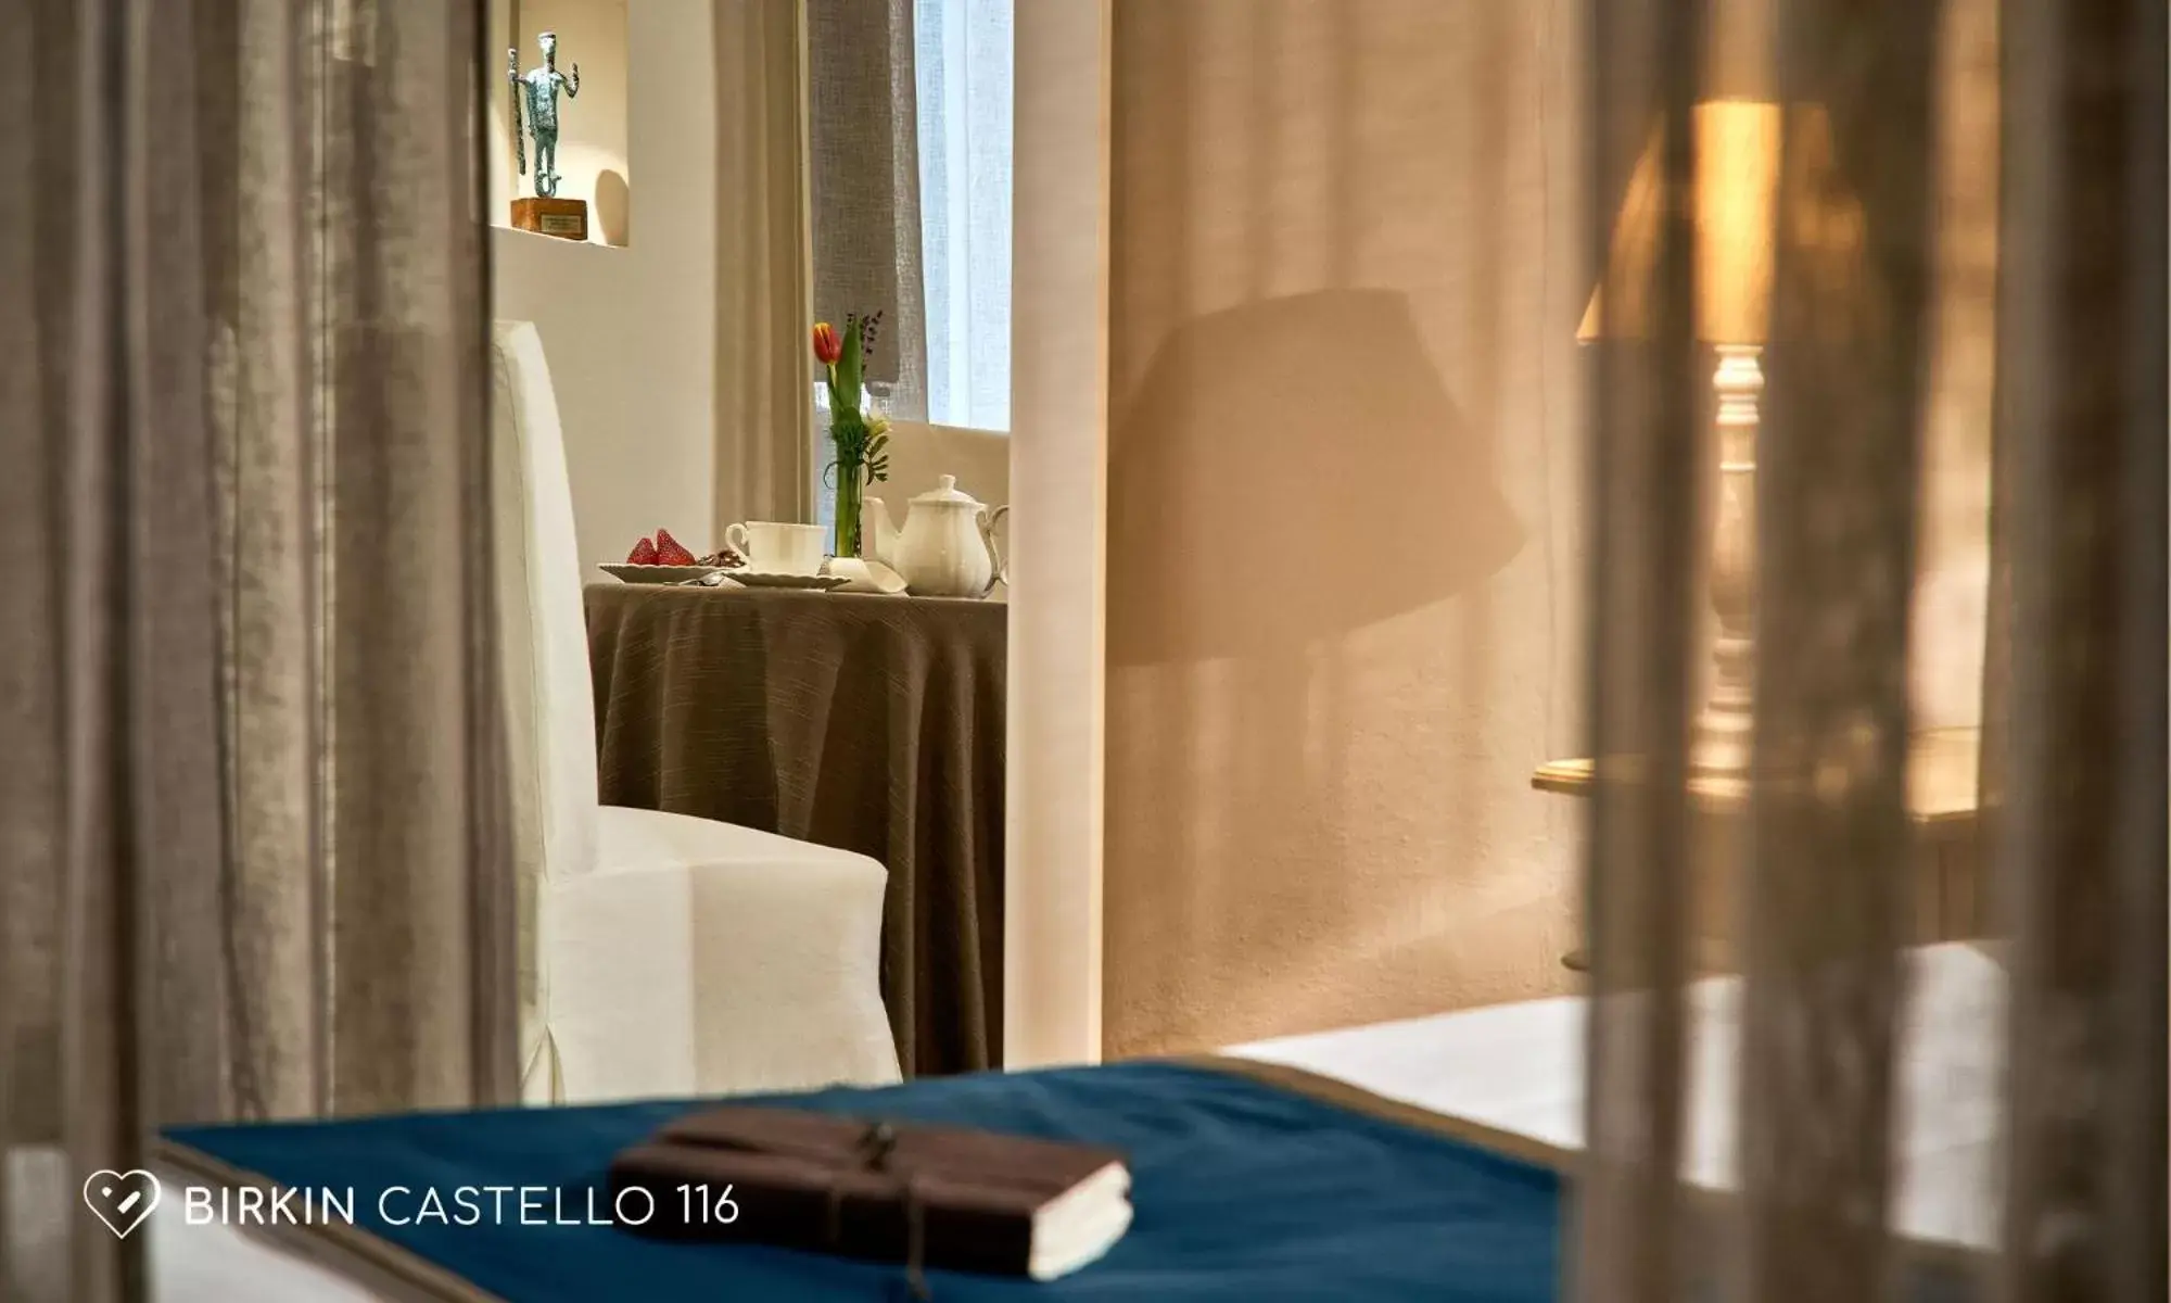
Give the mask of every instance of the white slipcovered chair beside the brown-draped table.
M 499 321 L 493 345 L 528 1099 L 897 1081 L 881 864 L 599 804 L 558 402 L 532 324 Z

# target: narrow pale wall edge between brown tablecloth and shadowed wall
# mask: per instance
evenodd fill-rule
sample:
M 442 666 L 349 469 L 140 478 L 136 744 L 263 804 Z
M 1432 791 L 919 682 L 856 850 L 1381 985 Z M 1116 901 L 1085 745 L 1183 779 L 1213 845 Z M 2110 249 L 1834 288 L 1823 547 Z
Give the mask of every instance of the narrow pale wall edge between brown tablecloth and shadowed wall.
M 1112 0 L 1020 4 L 1003 1064 L 1101 1058 Z

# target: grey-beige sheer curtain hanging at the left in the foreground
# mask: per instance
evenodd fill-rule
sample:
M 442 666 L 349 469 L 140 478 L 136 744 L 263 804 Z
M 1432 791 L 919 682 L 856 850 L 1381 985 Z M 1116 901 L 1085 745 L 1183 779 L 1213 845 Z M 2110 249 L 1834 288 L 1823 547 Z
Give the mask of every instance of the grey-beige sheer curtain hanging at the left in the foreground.
M 0 1296 L 178 1121 L 515 1097 L 480 2 L 0 41 Z

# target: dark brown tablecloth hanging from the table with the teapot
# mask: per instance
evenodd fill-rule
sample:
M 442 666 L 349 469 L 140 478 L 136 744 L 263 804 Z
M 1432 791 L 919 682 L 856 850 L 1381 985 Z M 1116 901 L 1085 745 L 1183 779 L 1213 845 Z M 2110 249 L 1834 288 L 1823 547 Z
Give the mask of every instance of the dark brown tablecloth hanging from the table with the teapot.
M 632 584 L 586 599 L 604 804 L 881 860 L 905 1075 L 1001 1066 L 1005 608 Z

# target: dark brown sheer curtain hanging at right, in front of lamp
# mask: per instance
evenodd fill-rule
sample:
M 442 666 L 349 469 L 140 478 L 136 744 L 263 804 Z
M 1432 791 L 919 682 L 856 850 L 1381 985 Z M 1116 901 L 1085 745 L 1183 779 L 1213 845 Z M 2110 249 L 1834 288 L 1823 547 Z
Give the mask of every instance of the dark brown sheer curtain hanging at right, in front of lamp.
M 1908 1001 L 1910 652 L 1937 345 L 1937 4 L 1776 0 L 1782 106 L 1756 443 L 1748 819 L 1728 858 L 1741 1095 L 1689 1101 L 1689 719 L 1702 641 L 1709 350 L 1696 343 L 1685 124 L 1724 93 L 1724 2 L 1589 7 L 1589 256 L 1650 330 L 1594 358 L 1589 1164 L 1583 1299 L 1921 1296 L 1887 1238 Z M 2164 1296 L 2164 7 L 2008 0 L 1993 584 L 1982 819 L 2006 964 L 2002 1247 L 1952 1260 L 1999 1299 Z M 1663 141 L 1674 219 L 1609 265 L 1611 198 Z M 1741 1197 L 1678 1184 L 1691 1103 L 1739 1116 Z

